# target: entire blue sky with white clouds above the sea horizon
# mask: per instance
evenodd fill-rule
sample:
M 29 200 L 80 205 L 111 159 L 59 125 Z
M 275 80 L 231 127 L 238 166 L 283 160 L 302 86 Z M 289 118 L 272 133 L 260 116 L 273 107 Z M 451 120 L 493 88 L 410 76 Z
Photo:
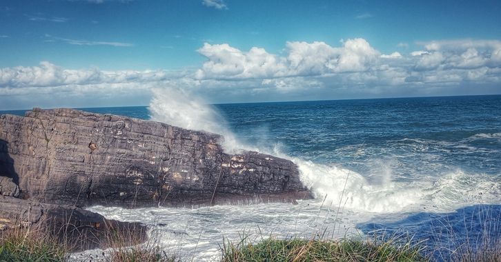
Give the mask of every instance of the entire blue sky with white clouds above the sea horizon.
M 501 94 L 501 1 L 1 0 L 0 110 Z M 171 92 L 171 90 L 177 90 Z

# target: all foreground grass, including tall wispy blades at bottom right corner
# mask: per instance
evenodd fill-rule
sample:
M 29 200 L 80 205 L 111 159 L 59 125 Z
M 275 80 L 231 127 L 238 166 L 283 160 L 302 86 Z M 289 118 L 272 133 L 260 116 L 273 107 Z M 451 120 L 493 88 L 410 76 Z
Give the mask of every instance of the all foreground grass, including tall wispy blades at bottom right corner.
M 251 241 L 249 236 L 244 235 L 237 242 L 223 239 L 220 261 L 501 262 L 501 239 L 496 233 L 500 232 L 500 217 L 487 212 L 492 210 L 479 209 L 473 212 L 472 214 L 482 219 L 484 224 L 479 228 L 469 228 L 470 225 L 465 223 L 465 228 L 468 229 L 466 233 L 454 232 L 452 221 L 439 221 L 438 228 L 444 232 L 433 232 L 433 236 L 446 241 L 442 241 L 439 247 L 426 246 L 425 241 L 415 241 L 406 234 L 387 236 L 384 232 L 378 232 L 373 236 L 344 239 L 324 239 L 324 234 L 322 236 L 316 234 L 316 237 L 311 239 L 298 237 L 275 239 L 273 236 L 265 238 L 261 234 L 261 239 L 257 242 L 256 239 Z M 478 220 L 476 216 L 464 215 L 464 221 Z M 106 230 L 104 234 L 99 235 L 99 241 L 101 247 L 110 247 L 111 250 L 106 251 L 106 254 L 102 253 L 103 256 L 99 257 L 99 261 L 193 261 L 186 256 L 181 258 L 176 252 L 166 252 L 161 248 L 159 231 L 153 231 L 148 239 L 144 239 L 143 236 L 135 234 L 137 231 L 134 228 L 120 229 L 111 224 L 104 228 Z M 471 234 L 468 232 L 475 231 L 481 231 L 482 234 L 468 235 Z M 79 243 L 75 243 L 75 239 L 66 238 L 66 234 L 59 233 L 35 226 L 24 228 L 18 226 L 3 233 L 0 231 L 0 261 L 68 261 L 70 253 Z M 88 238 L 85 234 L 81 234 L 80 237 L 80 240 Z

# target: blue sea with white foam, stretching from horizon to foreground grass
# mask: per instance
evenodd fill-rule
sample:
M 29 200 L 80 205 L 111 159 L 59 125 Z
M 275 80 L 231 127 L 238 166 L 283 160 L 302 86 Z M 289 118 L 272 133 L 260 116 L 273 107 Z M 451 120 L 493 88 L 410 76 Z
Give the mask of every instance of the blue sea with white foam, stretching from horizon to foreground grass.
M 84 110 L 150 119 L 155 106 Z M 155 114 L 162 110 L 168 102 Z M 448 260 L 462 243 L 479 248 L 501 239 L 500 95 L 233 103 L 210 110 L 239 145 L 297 163 L 316 199 L 90 210 L 155 225 L 152 232 L 161 232 L 166 247 L 186 254 L 196 248 L 193 256 L 208 261 L 219 255 L 223 237 L 242 232 L 256 239 L 412 237 L 438 260 Z

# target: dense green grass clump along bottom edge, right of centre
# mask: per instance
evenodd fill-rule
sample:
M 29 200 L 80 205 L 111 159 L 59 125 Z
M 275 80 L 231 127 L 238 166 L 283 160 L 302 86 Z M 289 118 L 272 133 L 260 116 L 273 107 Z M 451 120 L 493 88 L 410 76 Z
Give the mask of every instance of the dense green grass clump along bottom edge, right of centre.
M 224 244 L 222 261 L 429 261 L 421 251 L 415 245 L 392 241 L 271 238 L 253 244 L 243 239 L 237 245 Z

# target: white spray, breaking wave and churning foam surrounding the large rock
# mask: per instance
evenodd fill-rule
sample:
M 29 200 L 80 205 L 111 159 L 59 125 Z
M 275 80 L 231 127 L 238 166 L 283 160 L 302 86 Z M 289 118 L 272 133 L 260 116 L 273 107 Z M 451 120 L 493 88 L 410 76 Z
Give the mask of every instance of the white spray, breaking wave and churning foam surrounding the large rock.
M 240 143 L 215 108 L 181 90 L 155 90 L 149 109 L 156 121 L 224 134 L 224 148 L 228 151 L 259 150 Z M 500 137 L 499 134 L 478 136 Z M 150 234 L 158 236 L 167 250 L 191 256 L 194 261 L 212 261 L 219 256 L 223 239 L 238 241 L 239 234 L 248 234 L 255 240 L 271 234 L 277 237 L 324 234 L 335 238 L 360 234 L 355 229 L 357 223 L 374 216 L 389 214 L 399 219 L 409 212 L 449 212 L 466 205 L 500 203 L 500 176 L 456 170 L 396 179 L 393 165 L 384 161 L 374 161 L 368 176 L 342 168 L 339 163 L 321 164 L 291 158 L 269 145 L 259 151 L 294 161 L 303 183 L 311 188 L 316 199 L 299 201 L 298 205 L 262 203 L 135 210 L 96 206 L 89 210 L 109 219 L 146 223 L 152 228 Z M 95 253 L 83 254 L 92 252 Z

